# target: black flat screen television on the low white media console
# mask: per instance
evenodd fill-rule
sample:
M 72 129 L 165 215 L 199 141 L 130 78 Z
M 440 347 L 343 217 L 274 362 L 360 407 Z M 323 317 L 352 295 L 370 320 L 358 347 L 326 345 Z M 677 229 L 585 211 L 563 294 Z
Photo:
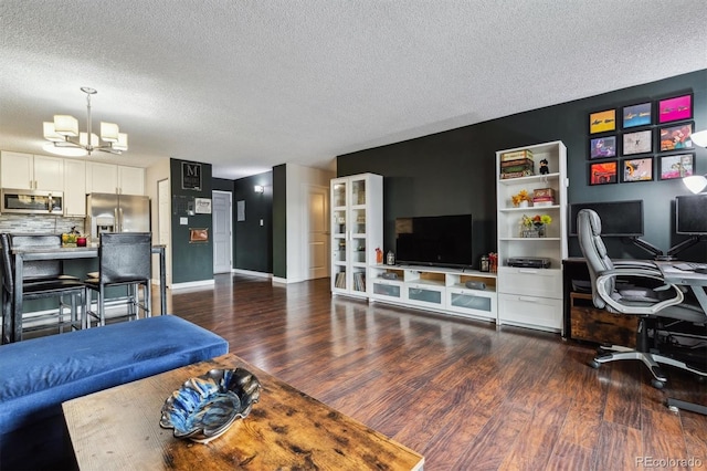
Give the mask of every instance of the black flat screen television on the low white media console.
M 472 214 L 395 219 L 398 263 L 472 266 Z

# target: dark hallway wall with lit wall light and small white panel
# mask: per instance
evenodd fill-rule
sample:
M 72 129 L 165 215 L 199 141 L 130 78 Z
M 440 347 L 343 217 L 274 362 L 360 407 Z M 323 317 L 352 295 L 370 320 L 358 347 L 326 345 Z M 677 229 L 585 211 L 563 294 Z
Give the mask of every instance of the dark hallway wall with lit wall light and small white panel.
M 256 193 L 254 188 L 264 188 Z M 245 205 L 245 220 L 238 220 L 238 201 Z M 273 271 L 273 172 L 234 181 L 233 245 L 234 268 L 263 273 Z M 262 223 L 261 223 L 262 221 Z

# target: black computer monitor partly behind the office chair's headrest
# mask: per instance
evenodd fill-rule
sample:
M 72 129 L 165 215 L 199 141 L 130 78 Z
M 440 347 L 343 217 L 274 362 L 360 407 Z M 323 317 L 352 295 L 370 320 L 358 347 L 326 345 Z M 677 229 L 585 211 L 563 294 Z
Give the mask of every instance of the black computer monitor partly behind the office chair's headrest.
M 602 237 L 643 236 L 643 200 L 572 203 L 569 208 L 570 236 L 577 236 L 577 214 L 585 208 L 599 214 Z

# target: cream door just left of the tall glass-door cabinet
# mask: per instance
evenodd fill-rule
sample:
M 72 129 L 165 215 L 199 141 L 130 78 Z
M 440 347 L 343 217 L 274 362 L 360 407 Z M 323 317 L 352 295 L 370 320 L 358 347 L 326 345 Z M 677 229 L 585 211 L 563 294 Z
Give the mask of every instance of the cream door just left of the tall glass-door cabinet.
M 307 280 L 329 276 L 329 189 L 309 186 L 307 192 Z

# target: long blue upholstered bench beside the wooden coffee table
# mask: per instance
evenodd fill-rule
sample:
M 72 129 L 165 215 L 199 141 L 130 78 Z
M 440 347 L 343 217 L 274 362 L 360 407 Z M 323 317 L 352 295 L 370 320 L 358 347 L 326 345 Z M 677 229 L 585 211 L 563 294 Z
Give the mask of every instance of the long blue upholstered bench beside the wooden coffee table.
M 74 468 L 63 401 L 228 352 L 173 315 L 0 346 L 0 469 Z

